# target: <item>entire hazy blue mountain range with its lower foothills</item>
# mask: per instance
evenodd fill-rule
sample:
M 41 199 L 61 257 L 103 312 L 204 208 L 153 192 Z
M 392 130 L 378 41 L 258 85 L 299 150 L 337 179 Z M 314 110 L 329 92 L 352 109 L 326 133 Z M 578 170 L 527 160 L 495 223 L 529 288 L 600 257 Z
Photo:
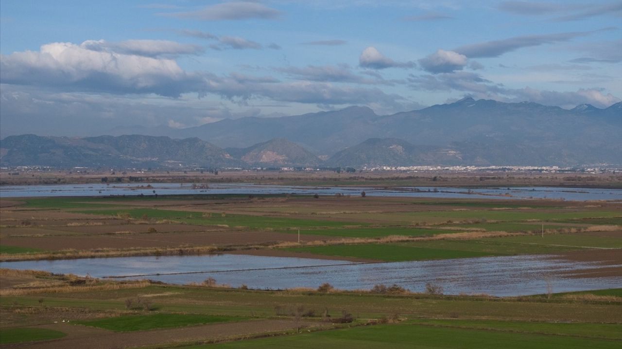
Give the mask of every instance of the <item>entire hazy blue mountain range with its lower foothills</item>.
M 389 116 L 353 106 L 112 133 L 130 130 L 143 135 L 6 137 L 0 141 L 0 162 L 169 168 L 622 164 L 622 102 L 567 110 L 467 97 Z

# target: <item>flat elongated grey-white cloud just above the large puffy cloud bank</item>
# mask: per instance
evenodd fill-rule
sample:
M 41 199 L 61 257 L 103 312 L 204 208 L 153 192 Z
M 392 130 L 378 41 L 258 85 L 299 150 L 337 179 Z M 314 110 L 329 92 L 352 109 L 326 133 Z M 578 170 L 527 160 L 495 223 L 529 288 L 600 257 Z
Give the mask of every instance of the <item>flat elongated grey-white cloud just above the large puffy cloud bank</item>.
M 203 48 L 200 46 L 169 40 L 125 40 L 121 42 L 86 40 L 80 44 L 80 47 L 92 51 L 145 57 L 175 57 L 177 55 L 198 55 L 203 52 Z

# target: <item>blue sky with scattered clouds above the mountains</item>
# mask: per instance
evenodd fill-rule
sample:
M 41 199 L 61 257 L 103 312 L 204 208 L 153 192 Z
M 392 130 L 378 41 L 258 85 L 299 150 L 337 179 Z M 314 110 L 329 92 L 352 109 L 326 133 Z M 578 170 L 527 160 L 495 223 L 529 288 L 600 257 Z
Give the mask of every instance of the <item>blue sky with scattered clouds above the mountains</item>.
M 622 98 L 622 1 L 0 2 L 0 137 Z

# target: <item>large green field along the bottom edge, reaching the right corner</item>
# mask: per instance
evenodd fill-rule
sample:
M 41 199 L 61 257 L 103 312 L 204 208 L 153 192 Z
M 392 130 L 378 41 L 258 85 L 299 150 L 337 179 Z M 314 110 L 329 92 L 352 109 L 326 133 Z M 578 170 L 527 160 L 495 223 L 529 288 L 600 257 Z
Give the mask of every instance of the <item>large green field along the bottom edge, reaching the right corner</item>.
M 577 327 L 580 327 L 577 326 Z M 524 327 L 523 327 L 524 328 Z M 588 329 L 592 327 L 588 326 Z M 620 329 L 620 327 L 618 327 Z M 606 329 L 605 332 L 608 332 Z M 583 330 L 586 331 L 586 330 Z M 284 337 L 262 338 L 218 345 L 187 348 L 507 348 L 507 349 L 593 349 L 620 348 L 618 340 L 578 338 L 561 333 L 516 333 L 499 330 L 460 329 L 417 324 L 376 325 L 328 330 Z

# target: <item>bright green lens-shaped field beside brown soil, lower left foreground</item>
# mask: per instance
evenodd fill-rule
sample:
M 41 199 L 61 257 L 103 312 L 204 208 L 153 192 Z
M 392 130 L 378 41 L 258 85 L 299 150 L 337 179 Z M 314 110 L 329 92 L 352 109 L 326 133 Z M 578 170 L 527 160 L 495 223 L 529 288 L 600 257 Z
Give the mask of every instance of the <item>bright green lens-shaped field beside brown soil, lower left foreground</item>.
M 152 315 L 126 315 L 108 317 L 106 319 L 77 321 L 77 324 L 114 332 L 132 332 L 152 329 L 165 329 L 170 327 L 182 327 L 188 325 L 215 324 L 218 322 L 231 322 L 244 320 L 241 317 L 214 316 L 202 314 L 152 314 Z

